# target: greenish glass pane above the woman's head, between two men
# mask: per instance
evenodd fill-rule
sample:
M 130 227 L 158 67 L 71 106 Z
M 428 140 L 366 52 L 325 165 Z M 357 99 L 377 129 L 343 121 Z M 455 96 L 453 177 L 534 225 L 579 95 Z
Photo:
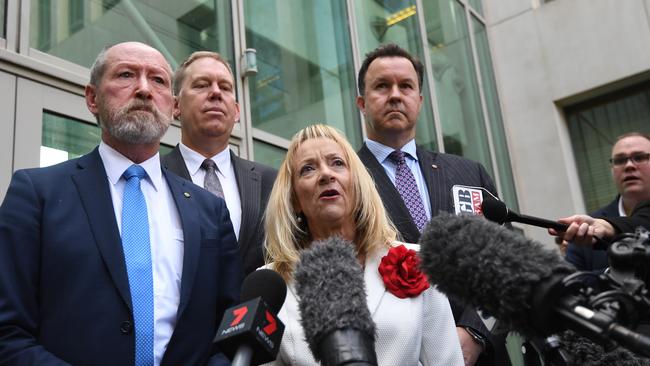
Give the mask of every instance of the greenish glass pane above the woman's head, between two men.
M 345 1 L 245 1 L 244 9 L 259 70 L 249 78 L 253 126 L 290 139 L 326 123 L 359 145 Z

